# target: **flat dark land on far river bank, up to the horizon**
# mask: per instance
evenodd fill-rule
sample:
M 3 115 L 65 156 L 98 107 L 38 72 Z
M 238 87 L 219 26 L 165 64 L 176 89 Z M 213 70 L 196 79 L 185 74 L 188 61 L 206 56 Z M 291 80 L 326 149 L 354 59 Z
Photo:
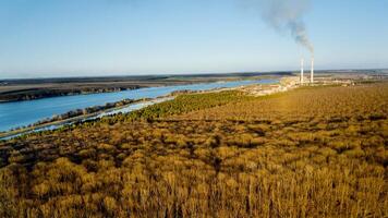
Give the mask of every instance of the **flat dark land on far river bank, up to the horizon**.
M 0 80 L 0 102 L 92 93 L 120 92 L 142 87 L 235 81 L 291 73 L 226 73 L 203 75 L 155 75 L 70 78 Z

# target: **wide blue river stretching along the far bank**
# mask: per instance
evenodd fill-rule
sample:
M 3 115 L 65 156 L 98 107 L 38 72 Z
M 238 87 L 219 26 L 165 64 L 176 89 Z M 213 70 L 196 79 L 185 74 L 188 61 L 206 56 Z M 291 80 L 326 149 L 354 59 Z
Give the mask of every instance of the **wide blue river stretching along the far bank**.
M 15 101 L 0 104 L 0 131 L 8 131 L 17 126 L 35 123 L 39 120 L 62 114 L 70 110 L 83 109 L 93 106 L 102 106 L 125 98 L 156 98 L 175 90 L 209 90 L 222 87 L 238 87 L 250 84 L 278 83 L 277 80 L 233 81 L 217 83 L 199 83 L 179 86 L 161 86 L 123 90 L 118 93 L 99 93 L 88 95 L 61 96 L 37 100 Z

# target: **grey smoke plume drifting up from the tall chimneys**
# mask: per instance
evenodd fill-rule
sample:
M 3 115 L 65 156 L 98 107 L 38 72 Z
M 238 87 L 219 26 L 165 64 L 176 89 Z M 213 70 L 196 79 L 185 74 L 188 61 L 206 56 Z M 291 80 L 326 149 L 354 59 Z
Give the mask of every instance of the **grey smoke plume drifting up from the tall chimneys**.
M 314 53 L 303 22 L 310 0 L 250 0 L 258 4 L 263 20 L 276 31 L 290 32 L 294 40 Z

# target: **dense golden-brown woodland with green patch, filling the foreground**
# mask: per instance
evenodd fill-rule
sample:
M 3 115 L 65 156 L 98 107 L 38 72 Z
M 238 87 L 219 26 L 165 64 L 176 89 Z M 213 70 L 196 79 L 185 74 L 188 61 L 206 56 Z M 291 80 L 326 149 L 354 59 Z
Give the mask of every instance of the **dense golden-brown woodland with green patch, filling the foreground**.
M 0 143 L 0 217 L 387 217 L 388 84 L 189 94 Z

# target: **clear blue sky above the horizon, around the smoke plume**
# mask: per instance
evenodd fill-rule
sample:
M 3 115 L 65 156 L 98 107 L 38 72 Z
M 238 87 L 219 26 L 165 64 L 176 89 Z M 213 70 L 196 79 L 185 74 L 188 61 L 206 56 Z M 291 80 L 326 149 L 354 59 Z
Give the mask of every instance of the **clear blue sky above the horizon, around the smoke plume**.
M 298 69 L 308 52 L 246 1 L 0 0 L 0 77 Z M 316 68 L 388 68 L 387 9 L 312 0 Z

